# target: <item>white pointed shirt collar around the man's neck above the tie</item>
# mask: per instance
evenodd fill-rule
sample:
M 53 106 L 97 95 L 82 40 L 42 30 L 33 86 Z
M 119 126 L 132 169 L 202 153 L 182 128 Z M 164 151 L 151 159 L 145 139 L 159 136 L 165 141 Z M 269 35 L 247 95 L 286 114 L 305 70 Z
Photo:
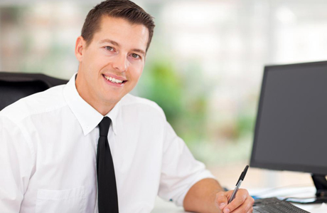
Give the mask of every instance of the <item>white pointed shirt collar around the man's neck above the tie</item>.
M 82 97 L 80 97 L 80 94 L 78 94 L 75 85 L 76 75 L 77 73 L 75 73 L 73 77 L 70 78 L 69 82 L 65 85 L 63 95 L 66 102 L 68 103 L 70 110 L 72 110 L 73 114 L 80 123 L 84 135 L 87 135 L 97 127 L 104 116 L 95 110 L 95 108 L 92 108 L 92 106 L 83 100 Z M 117 115 L 119 113 L 119 108 L 120 101 L 106 115 L 112 120 L 112 128 L 115 135 L 117 135 Z

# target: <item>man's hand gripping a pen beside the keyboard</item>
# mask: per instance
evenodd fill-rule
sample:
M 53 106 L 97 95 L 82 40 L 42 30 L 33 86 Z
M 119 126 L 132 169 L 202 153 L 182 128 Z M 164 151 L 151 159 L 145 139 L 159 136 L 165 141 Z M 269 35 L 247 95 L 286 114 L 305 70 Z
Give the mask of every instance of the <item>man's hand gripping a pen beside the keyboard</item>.
M 228 204 L 232 192 L 232 190 L 228 192 L 218 192 L 215 197 L 216 207 L 223 213 L 252 213 L 254 199 L 249 195 L 247 189 L 239 189 L 235 199 Z

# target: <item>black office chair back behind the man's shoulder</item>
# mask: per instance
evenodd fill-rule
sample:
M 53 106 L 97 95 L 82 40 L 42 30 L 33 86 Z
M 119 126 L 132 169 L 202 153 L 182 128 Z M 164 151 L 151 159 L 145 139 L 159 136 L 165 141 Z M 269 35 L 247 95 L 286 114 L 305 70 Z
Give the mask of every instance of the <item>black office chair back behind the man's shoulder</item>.
M 36 73 L 0 72 L 0 110 L 33 93 L 38 93 L 68 80 Z

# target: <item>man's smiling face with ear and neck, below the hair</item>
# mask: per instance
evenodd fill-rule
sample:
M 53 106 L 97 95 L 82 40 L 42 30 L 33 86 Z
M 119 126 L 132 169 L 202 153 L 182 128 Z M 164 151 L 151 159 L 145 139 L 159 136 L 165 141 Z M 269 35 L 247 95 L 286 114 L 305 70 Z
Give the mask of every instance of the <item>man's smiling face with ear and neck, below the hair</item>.
M 87 103 L 105 115 L 139 80 L 149 31 L 144 25 L 109 16 L 102 17 L 100 26 L 87 48 L 84 39 L 77 38 L 76 87 Z

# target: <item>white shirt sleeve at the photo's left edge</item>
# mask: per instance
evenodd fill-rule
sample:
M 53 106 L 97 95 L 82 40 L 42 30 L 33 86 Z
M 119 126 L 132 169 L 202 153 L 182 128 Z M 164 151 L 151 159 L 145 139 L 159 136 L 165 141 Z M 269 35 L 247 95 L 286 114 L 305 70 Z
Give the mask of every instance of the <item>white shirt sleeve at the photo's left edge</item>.
M 31 147 L 23 132 L 0 115 L 0 209 L 19 212 L 32 172 Z

